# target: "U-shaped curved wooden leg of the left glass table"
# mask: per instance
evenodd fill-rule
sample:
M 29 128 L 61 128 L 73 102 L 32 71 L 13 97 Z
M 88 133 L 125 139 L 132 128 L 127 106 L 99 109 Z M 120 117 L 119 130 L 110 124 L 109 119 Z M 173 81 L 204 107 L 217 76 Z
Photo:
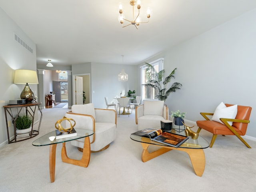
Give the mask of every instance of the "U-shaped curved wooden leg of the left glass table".
M 61 159 L 65 163 L 78 165 L 81 167 L 87 167 L 90 162 L 90 155 L 91 155 L 90 151 L 91 151 L 90 138 L 87 136 L 84 138 L 84 148 L 83 148 L 83 154 L 82 154 L 81 160 L 70 159 L 67 156 L 66 143 L 64 142 L 62 143 Z

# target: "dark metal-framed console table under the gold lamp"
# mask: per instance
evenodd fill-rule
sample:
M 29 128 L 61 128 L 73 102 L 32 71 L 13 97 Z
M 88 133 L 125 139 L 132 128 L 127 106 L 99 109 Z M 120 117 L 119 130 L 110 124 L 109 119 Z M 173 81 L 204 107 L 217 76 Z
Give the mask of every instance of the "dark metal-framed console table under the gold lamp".
M 42 121 L 41 102 L 21 104 L 21 105 L 6 105 L 3 107 L 4 107 L 5 120 L 6 120 L 8 144 L 19 142 L 19 141 L 24 141 L 24 140 L 30 139 L 34 136 L 37 136 L 39 134 L 39 129 L 40 129 L 41 121 Z M 34 130 L 34 116 L 35 116 L 35 113 L 38 112 L 36 110 L 36 107 L 38 107 L 38 110 L 40 111 L 41 116 L 40 116 L 38 128 L 37 128 L 37 130 Z M 12 111 L 12 109 L 13 109 L 13 111 Z M 32 117 L 32 129 L 31 129 L 31 132 L 28 133 L 29 135 L 26 136 L 26 138 L 17 140 L 16 119 L 17 119 L 18 115 L 20 114 L 20 112 L 24 111 L 22 109 L 25 110 L 26 115 L 29 114 Z M 9 114 L 11 121 L 13 122 L 13 125 L 14 125 L 13 126 L 14 127 L 14 138 L 13 139 L 10 139 L 10 134 L 9 134 L 10 120 L 9 120 L 9 124 L 8 124 L 8 114 Z

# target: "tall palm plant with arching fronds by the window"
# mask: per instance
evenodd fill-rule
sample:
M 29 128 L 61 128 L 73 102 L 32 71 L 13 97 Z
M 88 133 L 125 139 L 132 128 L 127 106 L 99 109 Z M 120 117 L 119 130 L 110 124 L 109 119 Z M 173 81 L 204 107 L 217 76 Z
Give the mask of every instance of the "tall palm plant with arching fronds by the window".
M 161 101 L 165 101 L 168 96 L 170 95 L 171 92 L 176 92 L 176 90 L 180 89 L 182 87 L 182 84 L 174 82 L 171 87 L 167 90 L 166 86 L 167 84 L 175 78 L 174 73 L 177 68 L 175 68 L 163 81 L 164 78 L 164 72 L 165 70 L 161 70 L 160 72 L 157 72 L 154 66 L 152 66 L 149 63 L 146 63 L 146 67 L 150 68 L 153 70 L 152 74 L 152 80 L 146 84 L 142 84 L 143 86 L 146 87 L 151 87 L 154 88 L 155 90 L 158 91 L 156 94 L 156 98 L 158 98 Z M 163 88 L 162 88 L 163 86 Z

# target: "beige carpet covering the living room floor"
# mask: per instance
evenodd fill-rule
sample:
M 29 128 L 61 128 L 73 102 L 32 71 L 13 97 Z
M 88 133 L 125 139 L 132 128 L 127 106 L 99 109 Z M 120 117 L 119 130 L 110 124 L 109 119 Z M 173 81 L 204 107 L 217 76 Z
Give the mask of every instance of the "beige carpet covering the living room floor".
M 185 152 L 170 151 L 148 162 L 141 161 L 140 143 L 130 139 L 136 131 L 134 112 L 117 117 L 117 136 L 110 147 L 91 154 L 87 168 L 62 162 L 61 144 L 56 150 L 55 182 L 50 183 L 49 146 L 32 142 L 54 130 L 54 123 L 68 108 L 43 109 L 39 136 L 0 148 L 0 192 L 255 192 L 256 142 L 247 148 L 234 136 L 218 136 L 212 148 L 204 150 L 206 167 L 196 176 Z M 196 129 L 195 129 L 196 130 Z M 208 142 L 212 135 L 202 130 Z M 70 158 L 81 152 L 68 142 Z

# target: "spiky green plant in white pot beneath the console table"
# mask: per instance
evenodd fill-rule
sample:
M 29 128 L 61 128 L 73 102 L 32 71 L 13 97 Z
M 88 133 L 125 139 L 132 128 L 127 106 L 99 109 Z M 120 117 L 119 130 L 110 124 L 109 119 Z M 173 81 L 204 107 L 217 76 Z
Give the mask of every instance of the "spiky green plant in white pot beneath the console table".
M 31 132 L 32 129 L 32 117 L 26 114 L 21 114 L 16 119 L 16 133 L 24 134 Z

